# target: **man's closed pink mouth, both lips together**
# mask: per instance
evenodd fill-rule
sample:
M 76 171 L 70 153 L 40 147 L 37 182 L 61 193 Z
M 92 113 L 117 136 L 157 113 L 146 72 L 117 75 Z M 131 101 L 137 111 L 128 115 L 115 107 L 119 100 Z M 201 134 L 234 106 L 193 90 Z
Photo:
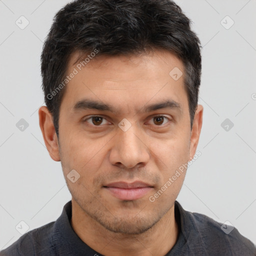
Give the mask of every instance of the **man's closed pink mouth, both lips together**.
M 110 194 L 120 200 L 132 201 L 143 197 L 153 186 L 142 181 L 132 183 L 119 181 L 103 186 Z

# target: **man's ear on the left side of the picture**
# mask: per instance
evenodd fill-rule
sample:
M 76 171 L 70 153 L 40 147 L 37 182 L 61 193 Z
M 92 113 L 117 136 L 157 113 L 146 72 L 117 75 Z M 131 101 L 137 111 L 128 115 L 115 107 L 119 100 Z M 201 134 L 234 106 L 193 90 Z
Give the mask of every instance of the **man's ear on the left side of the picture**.
M 38 115 L 42 136 L 49 155 L 54 161 L 60 161 L 58 139 L 53 125 L 52 115 L 46 106 L 39 108 Z

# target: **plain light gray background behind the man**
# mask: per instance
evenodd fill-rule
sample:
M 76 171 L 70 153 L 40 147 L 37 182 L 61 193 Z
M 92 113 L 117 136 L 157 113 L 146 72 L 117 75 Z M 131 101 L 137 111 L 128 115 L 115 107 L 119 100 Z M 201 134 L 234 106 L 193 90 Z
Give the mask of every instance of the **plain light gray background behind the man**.
M 21 236 L 15 229 L 21 220 L 28 230 L 54 221 L 71 199 L 38 124 L 42 42 L 67 2 L 0 0 L 0 249 Z M 228 220 L 256 243 L 256 1 L 176 2 L 203 45 L 204 106 L 201 156 L 189 166 L 177 200 L 186 210 Z M 29 21 L 24 29 L 15 24 L 21 15 Z M 234 21 L 229 29 L 227 15 Z M 16 127 L 21 118 L 29 125 L 23 131 Z M 222 125 L 228 130 L 221 126 L 226 118 L 234 124 Z

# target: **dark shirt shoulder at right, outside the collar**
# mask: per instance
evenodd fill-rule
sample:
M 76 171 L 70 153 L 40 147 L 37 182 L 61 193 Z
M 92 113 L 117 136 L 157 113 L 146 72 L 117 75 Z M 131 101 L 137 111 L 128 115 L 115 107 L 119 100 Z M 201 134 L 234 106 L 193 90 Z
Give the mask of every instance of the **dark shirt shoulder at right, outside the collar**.
M 186 213 L 194 229 L 199 232 L 207 251 L 216 251 L 221 255 L 256 255 L 256 246 L 241 235 L 237 228 L 201 213 Z

